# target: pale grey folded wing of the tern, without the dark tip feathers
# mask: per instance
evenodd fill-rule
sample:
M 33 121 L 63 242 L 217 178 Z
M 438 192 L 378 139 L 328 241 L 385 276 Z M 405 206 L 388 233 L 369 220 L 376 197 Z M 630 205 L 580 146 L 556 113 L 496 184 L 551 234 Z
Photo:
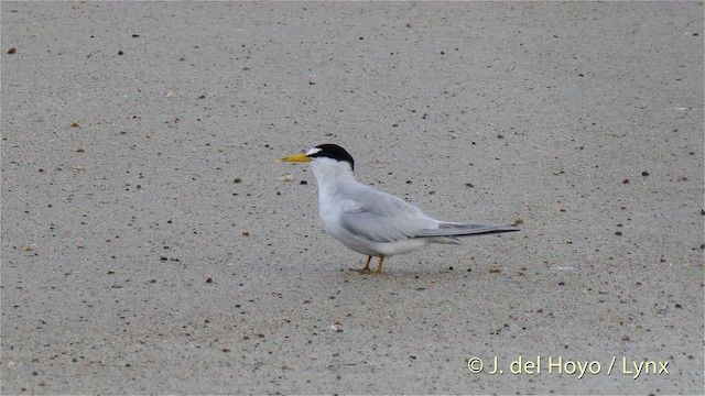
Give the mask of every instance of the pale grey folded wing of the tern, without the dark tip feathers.
M 361 186 L 343 195 L 340 226 L 354 235 L 372 242 L 393 242 L 417 237 L 438 221 L 415 206 L 392 195 Z

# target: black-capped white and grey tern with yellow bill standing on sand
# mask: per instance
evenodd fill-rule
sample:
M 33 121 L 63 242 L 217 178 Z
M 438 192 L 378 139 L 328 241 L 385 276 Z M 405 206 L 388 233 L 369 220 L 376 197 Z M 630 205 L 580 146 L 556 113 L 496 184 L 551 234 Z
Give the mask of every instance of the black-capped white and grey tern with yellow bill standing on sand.
M 518 224 L 490 226 L 441 221 L 393 195 L 355 179 L 355 160 L 337 144 L 321 144 L 280 162 L 308 163 L 318 185 L 318 215 L 325 230 L 348 249 L 367 255 L 360 273 L 372 273 L 370 261 L 411 253 L 431 243 L 460 243 L 460 237 L 519 231 Z

